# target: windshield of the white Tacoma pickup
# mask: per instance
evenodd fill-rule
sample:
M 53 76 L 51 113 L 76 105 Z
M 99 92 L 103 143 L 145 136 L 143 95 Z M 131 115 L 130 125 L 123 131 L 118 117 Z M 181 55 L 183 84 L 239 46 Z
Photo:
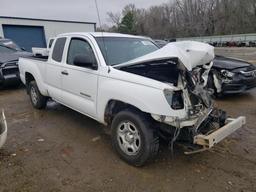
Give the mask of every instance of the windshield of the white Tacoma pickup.
M 104 37 L 105 51 L 102 37 L 95 37 L 95 40 L 100 47 L 106 64 L 111 66 L 133 60 L 159 49 L 148 39 Z

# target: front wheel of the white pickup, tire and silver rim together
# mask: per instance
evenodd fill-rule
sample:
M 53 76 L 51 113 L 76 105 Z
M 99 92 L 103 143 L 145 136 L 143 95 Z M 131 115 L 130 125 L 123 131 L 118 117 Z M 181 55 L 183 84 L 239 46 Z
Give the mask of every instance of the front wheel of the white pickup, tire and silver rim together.
M 159 139 L 156 128 L 146 114 L 128 109 L 118 112 L 111 124 L 111 138 L 119 156 L 140 166 L 154 158 Z

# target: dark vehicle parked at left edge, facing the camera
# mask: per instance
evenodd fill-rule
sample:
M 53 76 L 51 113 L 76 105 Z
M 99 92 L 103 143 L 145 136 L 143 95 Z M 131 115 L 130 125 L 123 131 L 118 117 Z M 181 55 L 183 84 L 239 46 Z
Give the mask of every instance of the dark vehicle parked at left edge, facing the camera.
M 20 83 L 18 60 L 20 56 L 33 56 L 25 52 L 13 40 L 0 38 L 0 86 L 10 86 Z

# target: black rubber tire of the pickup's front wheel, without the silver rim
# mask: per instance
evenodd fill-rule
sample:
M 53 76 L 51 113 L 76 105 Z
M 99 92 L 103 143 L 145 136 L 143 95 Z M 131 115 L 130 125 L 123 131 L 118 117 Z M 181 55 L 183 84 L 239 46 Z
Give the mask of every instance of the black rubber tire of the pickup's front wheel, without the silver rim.
M 120 139 L 120 137 L 118 138 L 117 130 L 119 129 L 120 124 L 127 122 L 132 123 L 135 126 L 134 129 L 138 130 L 140 136 L 140 148 L 137 150 L 136 154 L 127 154 L 127 152 L 124 152 L 124 149 L 121 148 L 121 144 L 119 144 L 122 139 Z M 126 135 L 127 134 L 128 133 L 126 132 Z M 111 138 L 114 148 L 119 156 L 128 164 L 134 166 L 141 166 L 149 162 L 156 156 L 158 151 L 159 139 L 154 124 L 146 114 L 135 109 L 123 110 L 114 116 L 111 124 Z M 128 141 L 124 140 L 124 142 Z M 135 140 L 133 142 L 135 142 Z

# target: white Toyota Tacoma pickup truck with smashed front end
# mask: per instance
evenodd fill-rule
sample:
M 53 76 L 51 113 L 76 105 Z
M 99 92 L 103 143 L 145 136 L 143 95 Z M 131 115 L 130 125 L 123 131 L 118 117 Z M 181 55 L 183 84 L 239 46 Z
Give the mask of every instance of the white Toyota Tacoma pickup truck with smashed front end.
M 214 48 L 175 42 L 159 48 L 126 34 L 68 33 L 54 39 L 49 56 L 20 57 L 20 78 L 33 106 L 52 98 L 111 125 L 120 157 L 139 166 L 158 151 L 159 137 L 188 141 L 201 152 L 245 124 L 226 119 L 206 87 Z M 225 125 L 226 124 L 226 125 Z

